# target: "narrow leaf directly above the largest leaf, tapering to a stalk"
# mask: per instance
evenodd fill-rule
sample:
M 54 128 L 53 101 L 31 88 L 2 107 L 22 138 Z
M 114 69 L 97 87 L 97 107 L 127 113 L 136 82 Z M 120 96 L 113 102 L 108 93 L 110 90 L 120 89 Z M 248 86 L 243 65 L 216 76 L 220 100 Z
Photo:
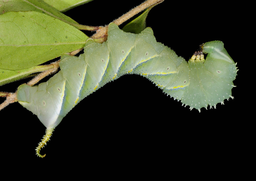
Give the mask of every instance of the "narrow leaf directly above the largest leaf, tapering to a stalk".
M 43 0 L 9 0 L 0 2 L 0 14 L 10 11 L 36 11 L 48 14 L 73 26 L 79 25 L 75 20 L 59 12 Z

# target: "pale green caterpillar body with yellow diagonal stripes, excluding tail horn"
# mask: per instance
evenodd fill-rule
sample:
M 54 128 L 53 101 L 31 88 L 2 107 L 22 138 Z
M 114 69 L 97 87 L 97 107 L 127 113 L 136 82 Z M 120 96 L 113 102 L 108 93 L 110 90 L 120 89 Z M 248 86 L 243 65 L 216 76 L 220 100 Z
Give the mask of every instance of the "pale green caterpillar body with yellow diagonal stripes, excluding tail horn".
M 220 41 L 203 45 L 205 62 L 186 62 L 162 43 L 151 28 L 125 33 L 109 25 L 108 40 L 87 40 L 84 54 L 66 56 L 60 71 L 38 86 L 21 85 L 19 103 L 38 116 L 46 128 L 56 127 L 82 99 L 124 74 L 140 74 L 190 108 L 216 106 L 231 97 L 236 64 Z

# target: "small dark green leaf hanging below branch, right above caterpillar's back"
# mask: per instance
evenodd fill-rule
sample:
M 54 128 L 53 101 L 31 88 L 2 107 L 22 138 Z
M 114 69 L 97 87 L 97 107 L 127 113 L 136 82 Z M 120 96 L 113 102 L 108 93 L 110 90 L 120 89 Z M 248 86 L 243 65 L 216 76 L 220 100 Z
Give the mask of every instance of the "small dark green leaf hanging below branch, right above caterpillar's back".
M 150 6 L 148 9 L 146 9 L 140 16 L 129 22 L 122 28 L 125 32 L 135 33 L 139 34 L 142 30 L 146 28 L 146 18 L 148 16 L 148 12 L 154 7 Z

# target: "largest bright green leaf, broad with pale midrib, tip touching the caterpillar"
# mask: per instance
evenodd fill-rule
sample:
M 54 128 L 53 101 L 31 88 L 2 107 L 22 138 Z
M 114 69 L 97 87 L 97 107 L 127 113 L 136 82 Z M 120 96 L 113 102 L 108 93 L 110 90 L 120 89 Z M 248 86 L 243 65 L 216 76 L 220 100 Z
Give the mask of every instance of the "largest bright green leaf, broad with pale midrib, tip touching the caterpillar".
M 40 12 L 0 15 L 0 69 L 42 64 L 84 47 L 89 37 L 75 27 Z

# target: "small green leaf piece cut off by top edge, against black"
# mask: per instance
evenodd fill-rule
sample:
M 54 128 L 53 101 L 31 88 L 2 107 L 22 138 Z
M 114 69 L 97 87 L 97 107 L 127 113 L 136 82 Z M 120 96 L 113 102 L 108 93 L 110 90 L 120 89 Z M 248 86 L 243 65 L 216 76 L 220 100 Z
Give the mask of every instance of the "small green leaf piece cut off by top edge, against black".
M 51 5 L 52 7 L 56 8 L 61 12 L 66 12 L 76 6 L 80 6 L 85 3 L 89 3 L 92 0 L 44 0 L 47 4 Z

